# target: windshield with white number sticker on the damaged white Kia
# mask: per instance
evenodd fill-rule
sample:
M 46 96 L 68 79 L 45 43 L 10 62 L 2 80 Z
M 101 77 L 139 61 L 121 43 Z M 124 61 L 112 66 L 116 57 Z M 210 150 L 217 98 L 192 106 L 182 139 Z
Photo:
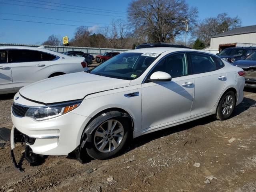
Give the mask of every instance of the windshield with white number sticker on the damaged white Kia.
M 133 80 L 141 76 L 158 56 L 159 54 L 152 53 L 122 53 L 90 70 L 90 73 Z

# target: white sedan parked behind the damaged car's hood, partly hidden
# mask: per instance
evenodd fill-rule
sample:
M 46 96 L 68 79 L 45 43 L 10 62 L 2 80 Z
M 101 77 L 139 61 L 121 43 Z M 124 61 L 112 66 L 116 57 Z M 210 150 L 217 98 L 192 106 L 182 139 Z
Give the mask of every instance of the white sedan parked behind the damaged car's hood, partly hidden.
M 0 94 L 18 92 L 33 82 L 88 70 L 84 58 L 43 48 L 0 46 Z

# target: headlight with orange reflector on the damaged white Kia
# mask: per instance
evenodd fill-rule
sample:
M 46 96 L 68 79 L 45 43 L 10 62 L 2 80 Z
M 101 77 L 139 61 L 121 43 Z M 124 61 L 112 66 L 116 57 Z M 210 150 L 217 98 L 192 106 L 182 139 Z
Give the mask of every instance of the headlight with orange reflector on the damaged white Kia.
M 66 114 L 77 108 L 82 100 L 48 105 L 43 107 L 28 108 L 25 117 L 32 117 L 38 121 L 51 119 Z

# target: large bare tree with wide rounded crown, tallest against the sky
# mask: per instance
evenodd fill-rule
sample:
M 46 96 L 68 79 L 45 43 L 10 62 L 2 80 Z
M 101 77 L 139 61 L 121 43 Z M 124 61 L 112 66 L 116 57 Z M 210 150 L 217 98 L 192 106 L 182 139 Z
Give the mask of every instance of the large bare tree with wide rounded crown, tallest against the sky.
M 182 21 L 196 22 L 197 8 L 189 8 L 185 0 L 132 0 L 128 7 L 131 26 L 149 41 L 165 42 L 185 31 Z

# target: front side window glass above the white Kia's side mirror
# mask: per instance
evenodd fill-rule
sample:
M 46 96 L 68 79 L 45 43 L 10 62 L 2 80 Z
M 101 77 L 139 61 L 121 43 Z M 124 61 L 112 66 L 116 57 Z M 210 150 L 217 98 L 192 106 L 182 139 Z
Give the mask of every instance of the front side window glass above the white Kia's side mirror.
M 166 56 L 153 69 L 151 74 L 162 71 L 170 74 L 172 78 L 188 75 L 188 62 L 185 53 Z M 150 74 L 150 76 L 151 76 Z

